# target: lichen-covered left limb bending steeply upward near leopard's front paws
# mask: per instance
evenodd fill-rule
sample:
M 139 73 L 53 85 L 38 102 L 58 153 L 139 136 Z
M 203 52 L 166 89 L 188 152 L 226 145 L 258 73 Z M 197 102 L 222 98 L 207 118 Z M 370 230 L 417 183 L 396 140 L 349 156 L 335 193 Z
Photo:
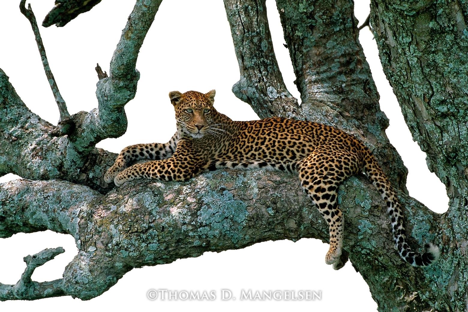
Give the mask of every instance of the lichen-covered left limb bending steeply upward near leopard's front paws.
M 70 116 L 67 120 L 73 128 L 66 137 L 50 138 L 62 133 L 24 105 L 0 70 L 0 147 L 6 151 L 0 157 L 0 174 L 11 172 L 35 180 L 60 178 L 99 190 L 107 187 L 100 170 L 105 171 L 115 156 L 108 157 L 108 152 L 94 146 L 126 130 L 124 104 L 135 96 L 138 52 L 160 3 L 136 2 L 110 62 L 110 77 L 97 83 L 98 109 Z M 44 155 L 48 155 L 45 161 Z M 102 166 L 95 166 L 95 161 Z

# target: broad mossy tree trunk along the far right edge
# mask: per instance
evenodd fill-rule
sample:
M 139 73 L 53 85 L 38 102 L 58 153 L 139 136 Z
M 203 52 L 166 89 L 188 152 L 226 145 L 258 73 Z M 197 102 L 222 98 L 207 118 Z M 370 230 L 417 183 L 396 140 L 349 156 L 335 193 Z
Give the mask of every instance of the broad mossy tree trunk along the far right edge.
M 438 275 L 430 289 L 403 283 L 402 289 L 417 296 L 399 311 L 466 311 L 468 306 L 467 17 L 463 1 L 371 2 L 384 71 L 413 138 L 427 153 L 429 169 L 450 198 L 440 224 L 444 254 Z

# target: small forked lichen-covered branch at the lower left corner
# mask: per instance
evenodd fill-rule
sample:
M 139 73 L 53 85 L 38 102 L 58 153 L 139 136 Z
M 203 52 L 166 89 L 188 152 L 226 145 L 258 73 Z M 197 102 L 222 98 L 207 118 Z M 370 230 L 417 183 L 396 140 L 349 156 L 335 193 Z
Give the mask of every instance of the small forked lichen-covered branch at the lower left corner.
M 61 280 L 37 283 L 31 280 L 31 276 L 37 267 L 47 261 L 51 261 L 58 254 L 64 253 L 62 247 L 44 249 L 43 251 L 28 255 L 23 258 L 26 262 L 26 269 L 20 280 L 15 285 L 5 285 L 0 283 L 0 301 L 4 300 L 34 300 L 47 297 L 63 296 Z

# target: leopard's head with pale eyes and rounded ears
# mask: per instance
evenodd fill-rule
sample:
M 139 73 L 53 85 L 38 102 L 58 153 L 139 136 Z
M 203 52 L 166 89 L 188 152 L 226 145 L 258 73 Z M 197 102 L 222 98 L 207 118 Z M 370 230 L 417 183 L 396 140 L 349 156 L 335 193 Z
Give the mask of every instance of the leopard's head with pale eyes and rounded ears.
M 197 91 L 169 92 L 169 98 L 176 110 L 177 131 L 188 138 L 202 138 L 210 131 L 212 118 L 216 113 L 213 108 L 215 90 L 208 93 Z

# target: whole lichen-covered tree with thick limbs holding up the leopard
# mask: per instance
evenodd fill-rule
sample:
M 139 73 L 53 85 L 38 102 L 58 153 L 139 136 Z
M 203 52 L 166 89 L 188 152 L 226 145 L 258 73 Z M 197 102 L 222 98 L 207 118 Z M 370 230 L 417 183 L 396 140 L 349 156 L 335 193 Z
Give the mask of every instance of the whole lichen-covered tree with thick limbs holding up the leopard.
M 29 179 L 0 186 L 0 237 L 51 229 L 73 235 L 80 250 L 63 279 L 52 282 L 31 282 L 30 274 L 61 250 L 28 258 L 28 270 L 15 287 L 0 285 L 2 299 L 61 295 L 89 299 L 144 265 L 267 239 L 327 241 L 326 227 L 316 221 L 321 217 L 297 192 L 295 178 L 284 174 L 213 172 L 188 183 L 139 181 L 120 189 L 103 183 L 102 175 L 115 154 L 95 144 L 125 131 L 123 107 L 136 92 L 139 47 L 160 3 L 137 1 L 110 63 L 109 77 L 98 82 L 98 109 L 69 116 L 52 84 L 61 111 L 59 125 L 53 126 L 29 111 L 0 71 L 4 130 L 0 150 L 5 151 L 0 173 Z M 384 69 L 414 138 L 428 154 L 431 170 L 447 186 L 450 207 L 438 215 L 406 194 L 406 169 L 384 132 L 388 120 L 377 105 L 378 94 L 357 40 L 352 2 L 278 0 L 277 5 L 302 104 L 283 83 L 261 0 L 225 0 L 241 70 L 234 94 L 260 117 L 319 121 L 364 140 L 400 190 L 413 245 L 428 240 L 439 245 L 442 257 L 431 268 L 402 265 L 388 235 L 379 194 L 361 176 L 344 183 L 340 207 L 347 216 L 345 250 L 369 284 L 380 311 L 463 311 L 467 302 L 462 274 L 468 175 L 462 66 L 466 7 L 372 3 L 371 23 Z M 125 204 L 129 200 L 131 210 Z M 187 208 L 169 213 L 177 206 Z

